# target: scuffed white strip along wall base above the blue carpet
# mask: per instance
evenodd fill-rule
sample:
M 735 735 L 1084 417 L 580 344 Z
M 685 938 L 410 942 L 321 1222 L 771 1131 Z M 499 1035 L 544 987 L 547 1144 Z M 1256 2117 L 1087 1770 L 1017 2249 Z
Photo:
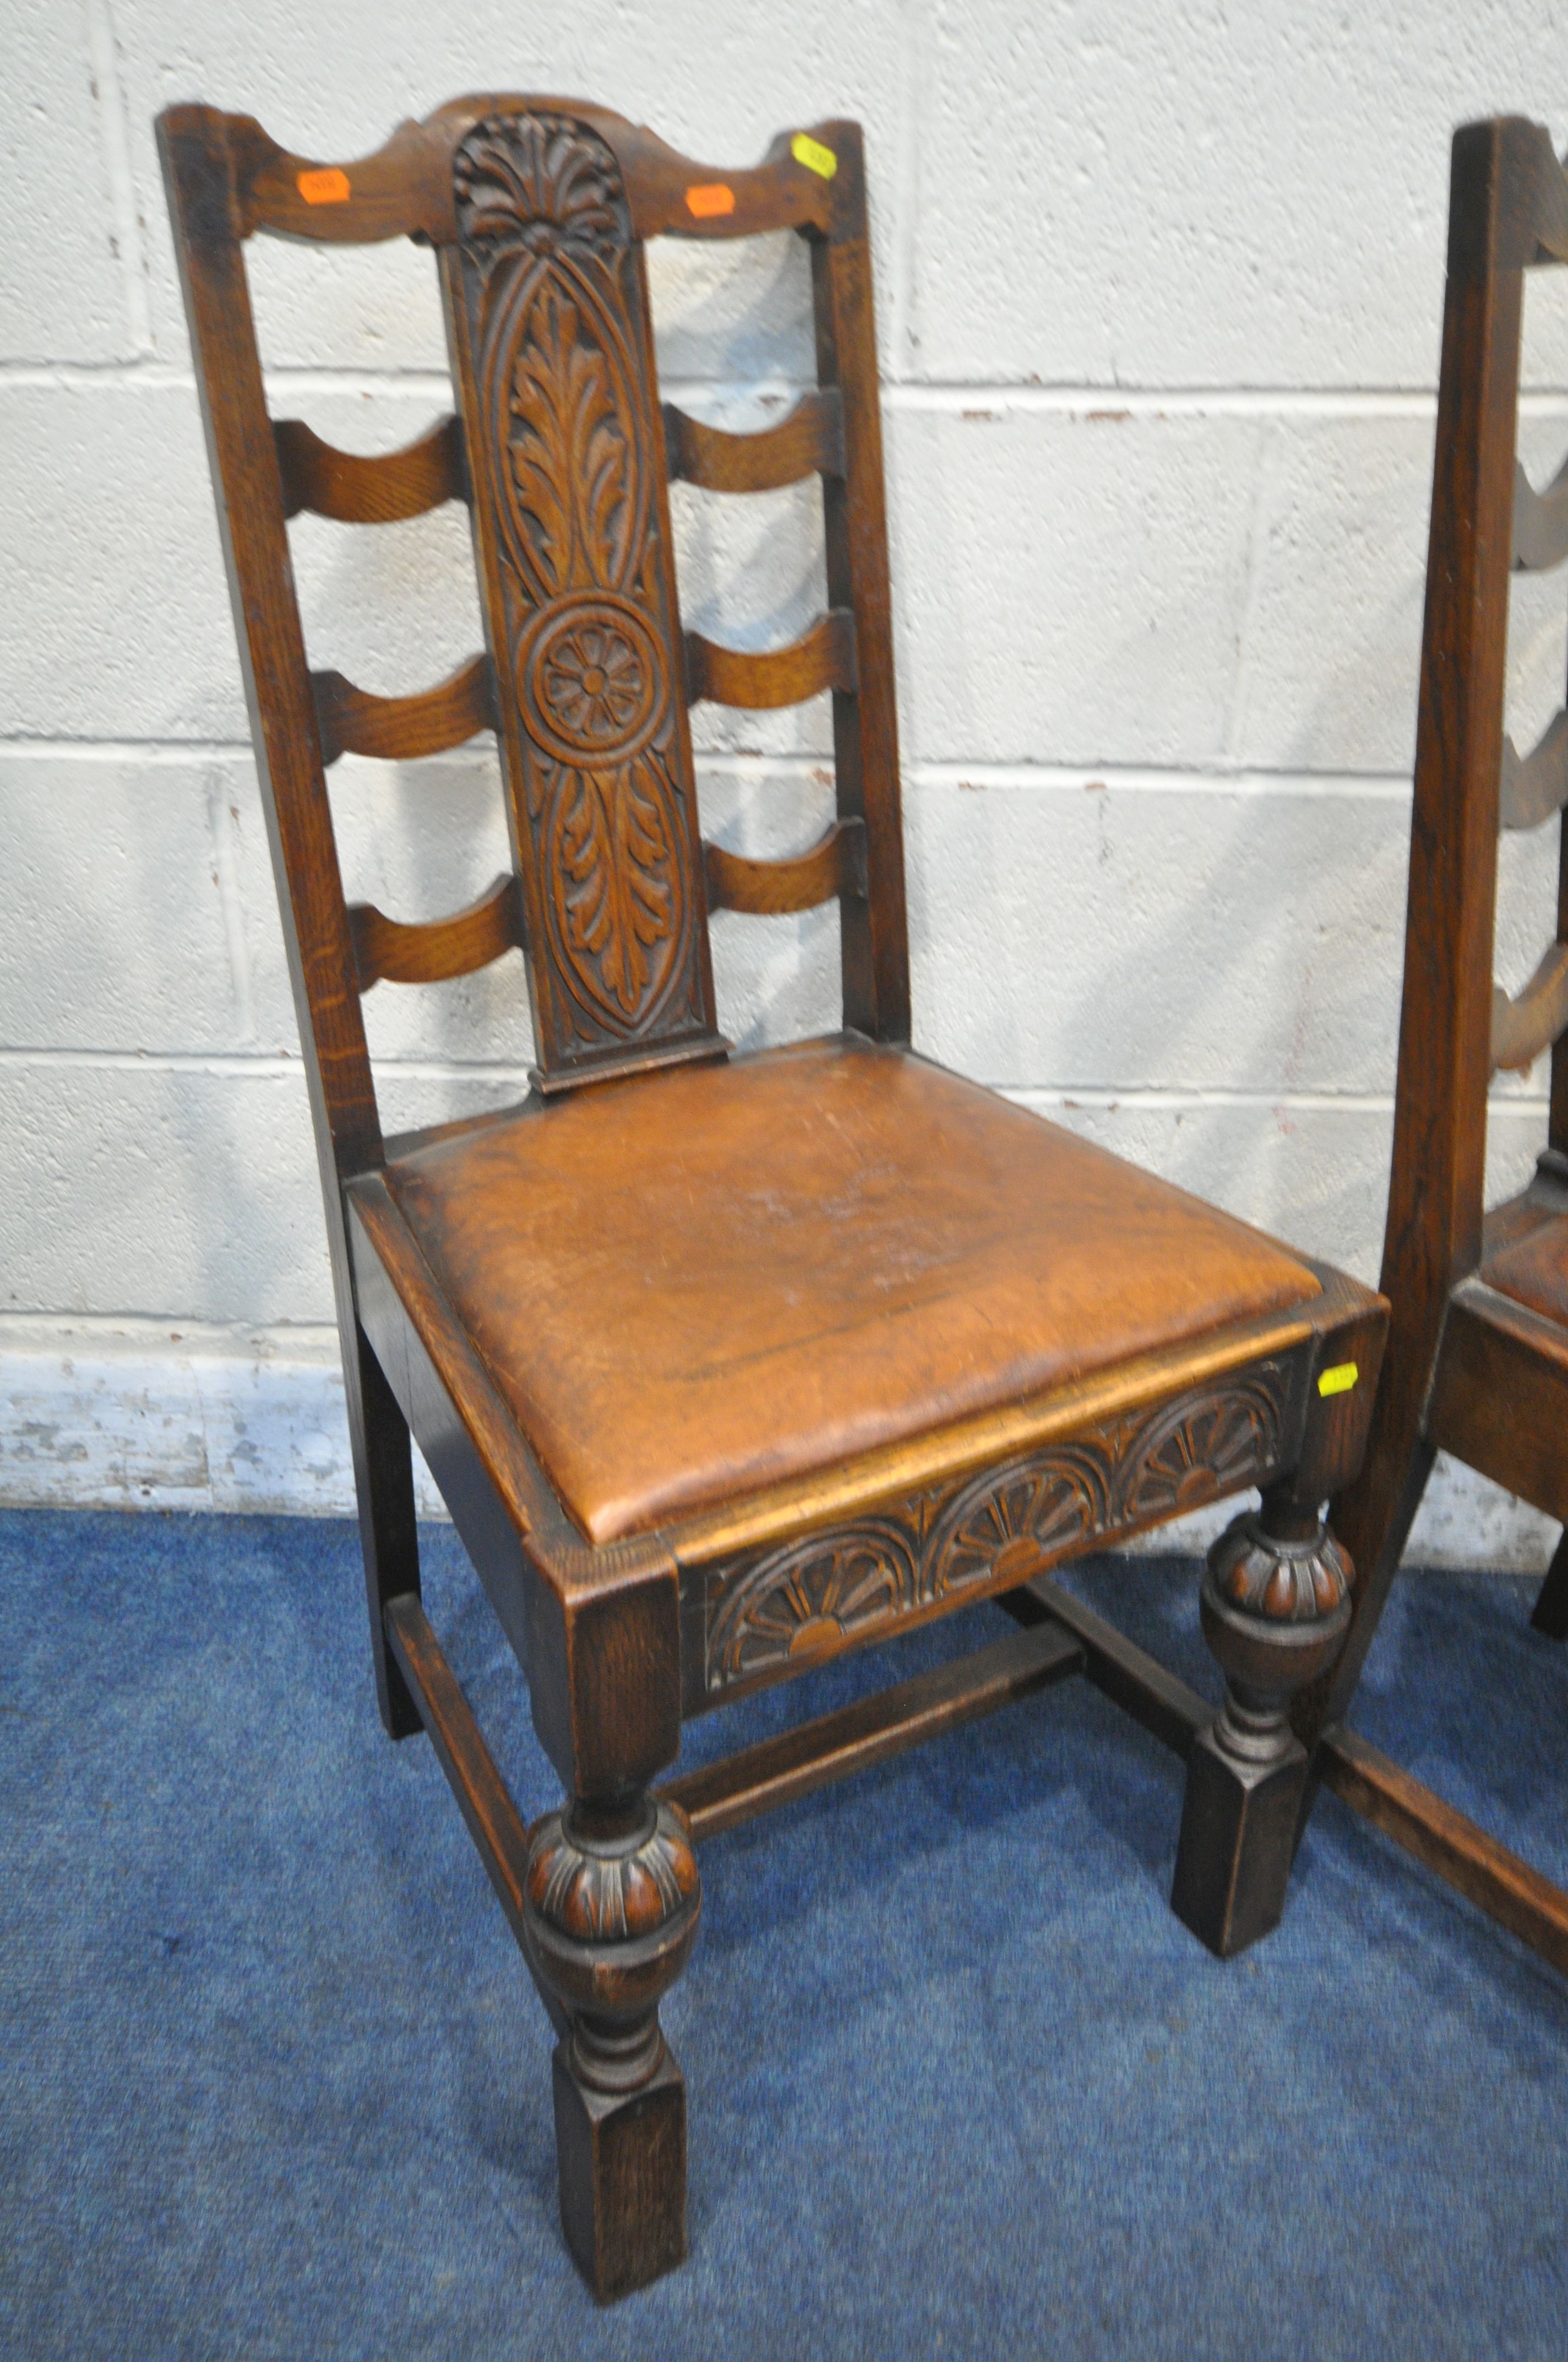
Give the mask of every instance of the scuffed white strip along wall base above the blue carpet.
M 420 1514 L 444 1516 L 416 1453 Z M 352 1516 L 333 1330 L 0 1320 L 0 1505 Z M 1233 1505 L 1141 1538 L 1200 1549 Z M 1542 1573 L 1556 1523 L 1438 1460 L 1412 1566 Z

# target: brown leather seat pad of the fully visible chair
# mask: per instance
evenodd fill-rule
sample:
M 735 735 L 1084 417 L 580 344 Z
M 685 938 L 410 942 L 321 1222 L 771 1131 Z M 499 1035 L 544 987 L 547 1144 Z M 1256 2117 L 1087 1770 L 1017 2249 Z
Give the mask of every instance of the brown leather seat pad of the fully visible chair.
M 1318 1294 L 1228 1214 L 855 1037 L 600 1084 L 387 1183 L 595 1542 Z

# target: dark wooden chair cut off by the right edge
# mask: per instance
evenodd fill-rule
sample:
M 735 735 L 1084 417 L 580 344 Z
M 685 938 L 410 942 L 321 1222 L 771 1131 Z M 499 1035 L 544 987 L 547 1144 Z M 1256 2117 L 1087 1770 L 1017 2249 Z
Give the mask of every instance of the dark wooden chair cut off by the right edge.
M 1341 1727 L 1438 1450 L 1568 1519 L 1568 824 L 1559 940 L 1509 999 L 1492 983 L 1500 829 L 1568 808 L 1568 713 L 1533 753 L 1504 737 L 1509 574 L 1568 557 L 1568 465 L 1516 461 L 1523 276 L 1568 262 L 1568 175 L 1540 123 L 1455 132 L 1426 553 L 1405 994 L 1381 1290 L 1389 1358 L 1358 1481 L 1334 1505 L 1360 1571 L 1329 1682 L 1296 1708 L 1318 1772 L 1559 1968 L 1568 1897 Z M 1488 1089 L 1551 1049 L 1547 1148 L 1485 1212 Z M 1568 1632 L 1568 1540 L 1535 1604 Z

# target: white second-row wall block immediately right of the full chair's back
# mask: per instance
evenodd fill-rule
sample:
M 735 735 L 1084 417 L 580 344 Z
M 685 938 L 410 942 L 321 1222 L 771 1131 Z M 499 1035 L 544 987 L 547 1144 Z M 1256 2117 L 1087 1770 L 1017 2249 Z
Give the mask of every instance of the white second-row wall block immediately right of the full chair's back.
M 1211 763 L 1244 614 L 1249 418 L 890 418 L 907 761 Z

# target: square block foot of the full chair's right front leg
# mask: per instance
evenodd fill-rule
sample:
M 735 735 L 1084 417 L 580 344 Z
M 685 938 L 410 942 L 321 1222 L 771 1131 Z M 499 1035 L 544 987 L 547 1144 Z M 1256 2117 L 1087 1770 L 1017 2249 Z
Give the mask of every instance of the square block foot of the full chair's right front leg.
M 1304 1788 L 1299 1741 L 1261 1769 L 1223 1755 L 1211 1729 L 1193 1741 L 1171 1911 L 1221 1960 L 1280 1925 Z

